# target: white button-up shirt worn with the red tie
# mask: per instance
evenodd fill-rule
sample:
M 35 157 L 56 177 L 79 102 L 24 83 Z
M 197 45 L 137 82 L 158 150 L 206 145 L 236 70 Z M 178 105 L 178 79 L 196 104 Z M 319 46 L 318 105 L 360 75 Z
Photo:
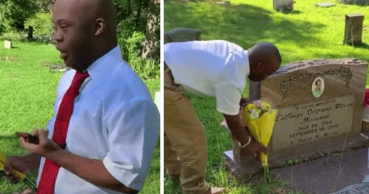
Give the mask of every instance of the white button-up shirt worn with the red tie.
M 142 80 L 123 61 L 119 47 L 87 68 L 88 77 L 76 97 L 66 136 L 65 150 L 103 161 L 107 171 L 124 185 L 142 188 L 158 140 L 160 117 Z M 54 116 L 47 128 L 52 138 L 54 122 L 75 70 L 59 81 Z M 41 159 L 40 181 L 45 158 Z M 60 168 L 55 194 L 121 193 L 95 186 Z

